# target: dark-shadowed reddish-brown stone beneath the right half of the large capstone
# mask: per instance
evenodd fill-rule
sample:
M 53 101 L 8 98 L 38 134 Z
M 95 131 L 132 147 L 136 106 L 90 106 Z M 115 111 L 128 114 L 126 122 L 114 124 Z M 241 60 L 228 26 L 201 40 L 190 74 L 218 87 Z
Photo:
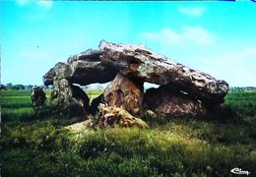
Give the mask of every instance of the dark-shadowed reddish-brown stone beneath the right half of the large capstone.
M 195 116 L 206 113 L 206 107 L 201 101 L 168 86 L 147 89 L 144 97 L 144 108 L 157 113 L 176 116 Z

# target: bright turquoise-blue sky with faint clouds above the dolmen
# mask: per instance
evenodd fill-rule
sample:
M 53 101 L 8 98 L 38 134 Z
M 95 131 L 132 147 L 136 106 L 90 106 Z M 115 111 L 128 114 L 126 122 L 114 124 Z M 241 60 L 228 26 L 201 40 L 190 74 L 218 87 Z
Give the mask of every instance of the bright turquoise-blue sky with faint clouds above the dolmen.
M 231 87 L 256 87 L 256 3 L 1 1 L 1 83 L 42 85 L 99 41 L 143 43 Z

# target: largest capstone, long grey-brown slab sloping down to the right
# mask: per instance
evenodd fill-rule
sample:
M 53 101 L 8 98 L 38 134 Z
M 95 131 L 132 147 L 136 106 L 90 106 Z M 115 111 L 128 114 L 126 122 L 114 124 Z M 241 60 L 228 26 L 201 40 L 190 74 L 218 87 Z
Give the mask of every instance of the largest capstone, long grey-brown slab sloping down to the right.
M 169 60 L 143 45 L 101 41 L 99 49 L 102 51 L 101 62 L 128 78 L 160 86 L 171 84 L 210 104 L 224 101 L 228 89 L 224 81 Z

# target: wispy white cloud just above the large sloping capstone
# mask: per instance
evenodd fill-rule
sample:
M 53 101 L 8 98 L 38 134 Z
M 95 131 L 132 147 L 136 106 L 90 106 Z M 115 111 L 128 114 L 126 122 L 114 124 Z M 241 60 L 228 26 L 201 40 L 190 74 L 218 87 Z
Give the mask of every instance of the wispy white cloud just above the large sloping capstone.
M 142 32 L 141 35 L 150 41 L 159 42 L 162 46 L 189 46 L 189 45 L 211 45 L 218 39 L 207 29 L 202 27 L 185 26 L 181 31 L 173 29 L 161 29 L 158 32 Z

